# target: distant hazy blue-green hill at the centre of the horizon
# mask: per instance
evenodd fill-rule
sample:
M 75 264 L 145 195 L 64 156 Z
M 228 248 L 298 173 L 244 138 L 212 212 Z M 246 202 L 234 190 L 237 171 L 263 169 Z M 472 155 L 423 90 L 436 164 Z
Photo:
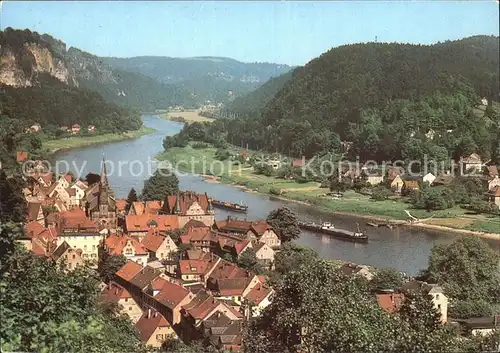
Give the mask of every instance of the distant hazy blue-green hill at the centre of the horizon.
M 291 70 L 288 65 L 243 63 L 223 57 L 171 58 L 140 56 L 102 58 L 115 69 L 140 73 L 164 84 L 175 84 L 199 102 L 230 102 L 272 77 Z

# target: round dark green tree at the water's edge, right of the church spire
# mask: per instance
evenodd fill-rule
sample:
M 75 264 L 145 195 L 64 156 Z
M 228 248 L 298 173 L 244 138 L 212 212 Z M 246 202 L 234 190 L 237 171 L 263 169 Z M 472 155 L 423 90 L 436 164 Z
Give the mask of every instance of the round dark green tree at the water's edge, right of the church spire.
M 158 169 L 144 182 L 141 198 L 145 201 L 164 200 L 179 192 L 179 179 L 167 169 Z

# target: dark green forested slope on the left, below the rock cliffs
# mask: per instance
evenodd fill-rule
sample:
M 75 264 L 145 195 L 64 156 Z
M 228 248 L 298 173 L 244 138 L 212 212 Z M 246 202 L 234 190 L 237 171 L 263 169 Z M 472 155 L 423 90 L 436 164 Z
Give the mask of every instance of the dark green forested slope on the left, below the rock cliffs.
M 83 129 L 95 125 L 97 132 L 136 130 L 141 125 L 137 112 L 106 103 L 96 92 L 67 86 L 40 74 L 39 85 L 18 87 L 2 85 L 0 111 L 29 127 L 38 123 L 44 131 L 79 124 Z

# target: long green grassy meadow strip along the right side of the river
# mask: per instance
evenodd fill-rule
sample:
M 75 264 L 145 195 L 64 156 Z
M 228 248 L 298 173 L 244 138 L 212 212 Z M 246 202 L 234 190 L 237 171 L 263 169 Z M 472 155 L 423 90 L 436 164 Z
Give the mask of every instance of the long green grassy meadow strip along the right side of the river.
M 400 226 L 432 229 L 457 234 L 472 234 L 484 238 L 500 240 L 500 218 L 488 218 L 484 215 L 470 215 L 455 207 L 452 209 L 426 212 L 411 209 L 411 205 L 402 199 L 374 201 L 367 195 L 347 191 L 343 199 L 335 200 L 325 194 L 329 191 L 320 188 L 318 183 L 297 183 L 275 177 L 257 175 L 249 165 L 235 165 L 229 160 L 215 158 L 215 148 L 194 149 L 172 148 L 157 156 L 157 159 L 169 161 L 181 172 L 208 175 L 210 183 L 224 183 L 248 192 L 257 192 L 305 205 L 336 215 L 358 217 L 367 221 L 387 222 Z M 214 178 L 210 174 L 218 175 Z M 277 195 L 276 192 L 279 192 Z M 405 210 L 424 222 L 409 223 Z

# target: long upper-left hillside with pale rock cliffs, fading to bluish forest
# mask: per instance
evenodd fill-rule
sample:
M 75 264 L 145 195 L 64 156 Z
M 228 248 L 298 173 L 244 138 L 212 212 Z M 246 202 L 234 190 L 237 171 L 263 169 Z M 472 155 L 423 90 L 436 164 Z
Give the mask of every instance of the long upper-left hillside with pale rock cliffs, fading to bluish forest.
M 50 35 L 7 28 L 0 32 L 0 83 L 27 87 L 47 73 L 73 87 L 89 88 L 108 102 L 142 110 L 166 109 L 173 105 L 195 106 L 188 92 L 161 84 L 149 77 L 110 68 L 97 56 Z

